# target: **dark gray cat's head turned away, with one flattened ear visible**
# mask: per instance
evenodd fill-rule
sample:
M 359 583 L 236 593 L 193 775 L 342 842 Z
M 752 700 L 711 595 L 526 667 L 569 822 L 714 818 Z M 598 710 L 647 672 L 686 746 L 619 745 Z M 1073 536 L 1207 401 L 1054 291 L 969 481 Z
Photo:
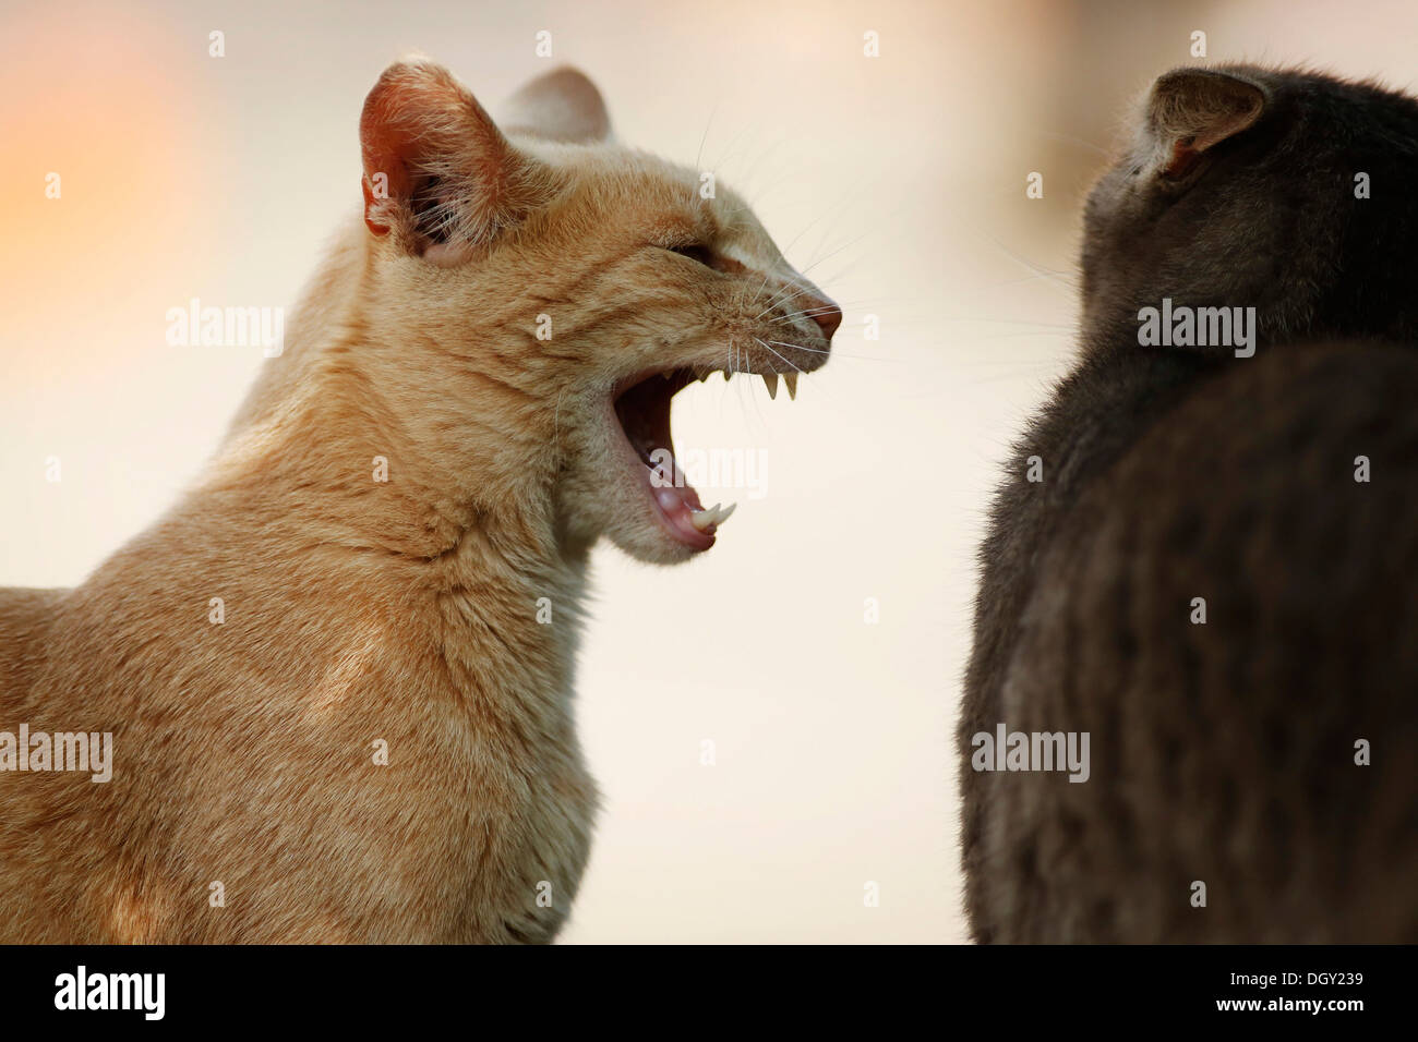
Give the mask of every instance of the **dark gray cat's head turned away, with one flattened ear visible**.
M 1415 172 L 1404 95 L 1239 65 L 1166 74 L 1088 200 L 1086 343 L 1136 337 L 1161 298 L 1255 308 L 1261 343 L 1412 337 Z

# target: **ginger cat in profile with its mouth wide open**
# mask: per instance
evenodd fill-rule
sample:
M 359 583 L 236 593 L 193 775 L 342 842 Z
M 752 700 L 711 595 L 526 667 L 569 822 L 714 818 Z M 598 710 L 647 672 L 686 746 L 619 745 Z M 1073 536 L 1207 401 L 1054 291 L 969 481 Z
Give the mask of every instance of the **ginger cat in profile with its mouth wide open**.
M 708 550 L 726 512 L 651 461 L 671 397 L 827 360 L 837 306 L 579 72 L 493 123 L 396 64 L 360 145 L 363 221 L 191 492 L 0 591 L 0 730 L 113 734 L 106 784 L 0 771 L 0 941 L 552 940 L 590 549 Z

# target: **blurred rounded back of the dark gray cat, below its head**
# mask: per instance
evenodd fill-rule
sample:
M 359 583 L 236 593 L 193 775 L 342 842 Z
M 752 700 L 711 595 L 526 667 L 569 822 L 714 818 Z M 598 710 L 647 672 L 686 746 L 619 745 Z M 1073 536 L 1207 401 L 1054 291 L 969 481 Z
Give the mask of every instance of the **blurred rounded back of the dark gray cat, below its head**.
M 1415 400 L 1405 347 L 1236 360 L 1081 492 L 997 707 L 1090 775 L 976 775 L 980 936 L 1418 936 Z

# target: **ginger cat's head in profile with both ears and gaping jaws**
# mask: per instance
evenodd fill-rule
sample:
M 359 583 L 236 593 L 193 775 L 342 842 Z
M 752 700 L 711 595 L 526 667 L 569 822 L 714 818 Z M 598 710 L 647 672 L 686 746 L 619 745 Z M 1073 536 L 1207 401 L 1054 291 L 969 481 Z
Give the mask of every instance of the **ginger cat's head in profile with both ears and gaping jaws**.
M 379 384 L 421 444 L 457 447 L 447 466 L 476 448 L 468 495 L 488 509 L 550 496 L 570 544 L 685 560 L 722 516 L 651 455 L 671 397 L 715 371 L 794 393 L 841 310 L 732 191 L 705 198 L 699 172 L 615 143 L 581 74 L 533 81 L 499 122 L 425 61 L 364 102 L 359 320 Z

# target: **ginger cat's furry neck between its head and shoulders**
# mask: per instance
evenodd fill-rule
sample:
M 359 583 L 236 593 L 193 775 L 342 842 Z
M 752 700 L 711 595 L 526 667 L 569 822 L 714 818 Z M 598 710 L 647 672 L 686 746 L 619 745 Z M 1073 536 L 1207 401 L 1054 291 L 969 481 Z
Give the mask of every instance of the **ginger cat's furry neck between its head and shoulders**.
M 590 547 L 559 523 L 553 439 L 425 404 L 437 377 L 367 313 L 362 233 L 312 279 L 194 495 L 277 560 L 322 554 L 352 598 L 400 591 L 457 688 L 533 698 L 560 729 Z

